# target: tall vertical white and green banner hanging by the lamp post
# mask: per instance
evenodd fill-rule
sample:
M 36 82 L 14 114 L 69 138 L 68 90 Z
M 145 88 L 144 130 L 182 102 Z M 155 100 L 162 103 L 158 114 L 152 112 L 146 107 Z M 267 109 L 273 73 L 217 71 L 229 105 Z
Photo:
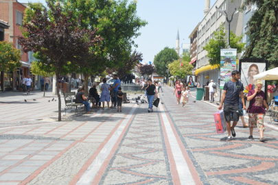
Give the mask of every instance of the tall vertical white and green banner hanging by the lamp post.
M 237 49 L 221 49 L 220 51 L 220 88 L 232 78 L 232 71 L 237 69 Z

